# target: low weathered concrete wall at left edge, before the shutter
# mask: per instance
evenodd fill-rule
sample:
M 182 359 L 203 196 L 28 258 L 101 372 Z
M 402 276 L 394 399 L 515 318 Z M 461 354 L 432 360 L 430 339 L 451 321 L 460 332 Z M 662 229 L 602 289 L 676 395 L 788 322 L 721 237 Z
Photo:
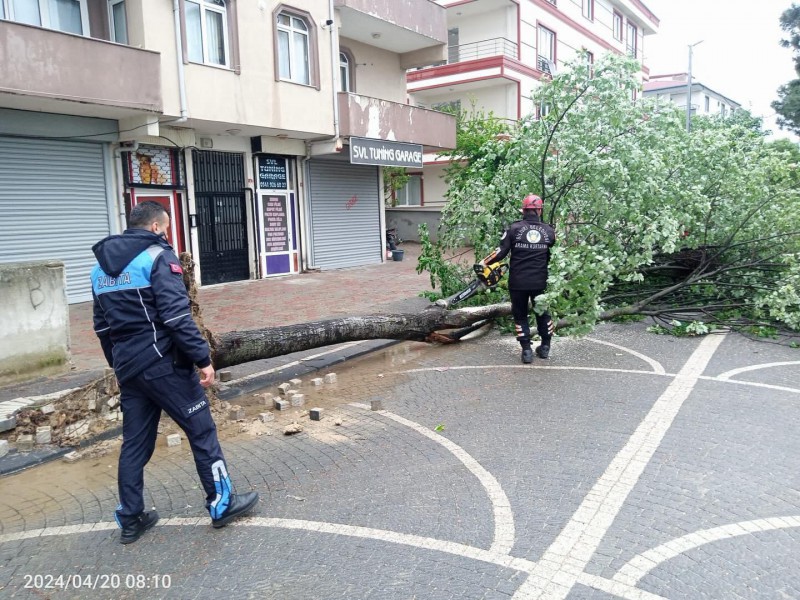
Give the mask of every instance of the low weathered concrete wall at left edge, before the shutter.
M 69 359 L 69 309 L 60 262 L 0 264 L 0 381 L 52 371 Z

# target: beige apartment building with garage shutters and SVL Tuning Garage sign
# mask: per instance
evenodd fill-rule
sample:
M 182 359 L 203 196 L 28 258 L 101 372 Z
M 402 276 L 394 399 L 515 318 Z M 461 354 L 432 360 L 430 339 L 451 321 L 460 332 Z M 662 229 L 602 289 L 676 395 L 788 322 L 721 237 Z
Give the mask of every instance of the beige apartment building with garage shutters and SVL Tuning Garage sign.
M 431 0 L 0 0 L 0 262 L 61 260 L 169 207 L 204 285 L 385 260 L 380 165 L 452 148 L 407 103 Z

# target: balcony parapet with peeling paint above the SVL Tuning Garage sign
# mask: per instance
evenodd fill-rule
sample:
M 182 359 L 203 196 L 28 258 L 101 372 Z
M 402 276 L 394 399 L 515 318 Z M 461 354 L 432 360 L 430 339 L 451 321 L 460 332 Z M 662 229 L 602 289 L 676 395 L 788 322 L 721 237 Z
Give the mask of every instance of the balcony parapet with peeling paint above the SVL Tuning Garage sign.
M 456 119 L 435 110 L 339 92 L 342 136 L 422 144 L 426 152 L 456 145 Z

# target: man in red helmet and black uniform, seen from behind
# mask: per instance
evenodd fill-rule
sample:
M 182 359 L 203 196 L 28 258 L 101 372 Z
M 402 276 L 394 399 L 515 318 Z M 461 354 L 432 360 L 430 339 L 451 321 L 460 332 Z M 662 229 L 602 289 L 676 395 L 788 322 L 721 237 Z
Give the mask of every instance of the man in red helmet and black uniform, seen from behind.
M 490 265 L 511 253 L 508 291 L 511 294 L 517 341 L 522 346 L 522 362 L 525 364 L 533 362 L 528 303 L 535 302 L 536 296 L 547 287 L 547 263 L 550 260 L 550 248 L 556 240 L 553 228 L 542 223 L 543 205 L 539 196 L 525 196 L 522 200 L 522 219 L 514 221 L 503 232 L 500 246 L 481 261 L 484 265 Z M 542 339 L 541 345 L 536 348 L 536 355 L 547 358 L 553 337 L 553 321 L 547 312 L 536 315 L 536 329 Z

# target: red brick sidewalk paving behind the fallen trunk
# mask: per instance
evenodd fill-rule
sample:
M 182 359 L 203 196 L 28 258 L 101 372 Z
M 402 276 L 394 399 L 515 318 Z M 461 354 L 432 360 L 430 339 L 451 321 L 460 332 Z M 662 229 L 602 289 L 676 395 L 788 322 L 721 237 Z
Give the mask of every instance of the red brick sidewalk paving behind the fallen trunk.
M 419 244 L 406 243 L 403 250 L 397 262 L 202 288 L 203 318 L 212 331 L 225 332 L 381 312 L 431 289 L 429 275 L 416 271 Z M 73 304 L 69 312 L 74 370 L 104 367 L 91 302 Z

